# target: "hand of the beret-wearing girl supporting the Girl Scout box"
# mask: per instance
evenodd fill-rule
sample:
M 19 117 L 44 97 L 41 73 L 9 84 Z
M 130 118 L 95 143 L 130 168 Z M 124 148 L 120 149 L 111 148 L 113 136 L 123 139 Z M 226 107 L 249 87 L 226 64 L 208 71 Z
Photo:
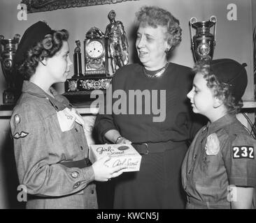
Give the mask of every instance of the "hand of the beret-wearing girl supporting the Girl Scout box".
M 108 181 L 111 178 L 120 176 L 123 170 L 127 167 L 108 167 L 107 162 L 111 160 L 111 157 L 106 156 L 97 160 L 92 164 L 92 169 L 94 171 L 94 178 L 97 181 Z

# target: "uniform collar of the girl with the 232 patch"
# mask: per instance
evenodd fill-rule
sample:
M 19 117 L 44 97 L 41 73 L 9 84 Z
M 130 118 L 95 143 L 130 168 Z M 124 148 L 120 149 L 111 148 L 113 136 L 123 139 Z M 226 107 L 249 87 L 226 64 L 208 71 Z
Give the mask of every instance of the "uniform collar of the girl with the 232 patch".
M 208 128 L 208 134 L 212 134 L 224 126 L 234 123 L 234 121 L 236 121 L 236 116 L 234 114 L 226 114 L 213 123 L 208 122 L 206 125 L 206 128 Z

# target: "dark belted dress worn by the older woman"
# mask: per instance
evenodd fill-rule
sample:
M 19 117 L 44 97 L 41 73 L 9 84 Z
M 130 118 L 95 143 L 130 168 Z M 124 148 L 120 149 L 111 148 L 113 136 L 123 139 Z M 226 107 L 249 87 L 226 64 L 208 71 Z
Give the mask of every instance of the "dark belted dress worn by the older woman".
M 125 91 L 127 114 L 122 109 L 122 114 L 113 111 L 113 114 L 97 116 L 94 128 L 101 143 L 107 142 L 104 134 L 108 130 L 116 129 L 132 141 L 135 148 L 140 149 L 141 144 L 147 143 L 149 151 L 148 155 L 142 155 L 140 171 L 125 173 L 115 179 L 114 208 L 185 208 L 181 163 L 187 151 L 187 140 L 192 139 L 202 126 L 192 122 L 186 97 L 192 88 L 190 68 L 170 63 L 161 77 L 150 79 L 145 77 L 142 66 L 132 64 L 115 73 L 112 88 L 113 92 L 117 89 Z M 131 90 L 149 91 L 151 106 L 157 103 L 158 113 L 154 106 L 151 112 L 145 109 L 146 97 L 142 105 L 135 98 L 132 109 L 132 104 L 129 104 Z M 157 90 L 157 98 L 152 90 Z M 161 96 L 162 102 L 160 90 L 166 92 L 166 98 Z M 117 100 L 125 98 L 113 97 L 114 107 Z M 129 109 L 134 110 L 134 114 Z M 138 114 L 137 109 L 141 109 L 142 114 Z M 158 120 L 154 120 L 157 117 Z

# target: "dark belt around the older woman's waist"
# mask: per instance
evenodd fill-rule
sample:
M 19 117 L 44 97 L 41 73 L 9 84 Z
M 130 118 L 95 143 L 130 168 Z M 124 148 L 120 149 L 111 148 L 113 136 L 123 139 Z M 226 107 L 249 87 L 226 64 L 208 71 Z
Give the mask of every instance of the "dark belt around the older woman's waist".
M 134 146 L 136 151 L 141 155 L 148 155 L 149 153 L 164 153 L 164 151 L 166 150 L 175 149 L 180 146 L 186 146 L 186 143 L 185 141 L 165 141 L 156 143 L 150 142 L 143 144 L 133 143 L 131 144 L 131 146 Z

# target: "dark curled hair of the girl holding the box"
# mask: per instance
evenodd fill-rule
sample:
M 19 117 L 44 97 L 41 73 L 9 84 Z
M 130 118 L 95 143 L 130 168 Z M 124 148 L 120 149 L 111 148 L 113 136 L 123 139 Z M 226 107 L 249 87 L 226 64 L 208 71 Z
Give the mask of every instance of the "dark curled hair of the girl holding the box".
M 17 68 L 24 79 L 30 79 L 36 72 L 36 67 L 44 58 L 51 58 L 62 48 L 63 41 L 69 39 L 66 29 L 52 30 L 40 42 L 34 43 L 28 50 L 24 62 Z

